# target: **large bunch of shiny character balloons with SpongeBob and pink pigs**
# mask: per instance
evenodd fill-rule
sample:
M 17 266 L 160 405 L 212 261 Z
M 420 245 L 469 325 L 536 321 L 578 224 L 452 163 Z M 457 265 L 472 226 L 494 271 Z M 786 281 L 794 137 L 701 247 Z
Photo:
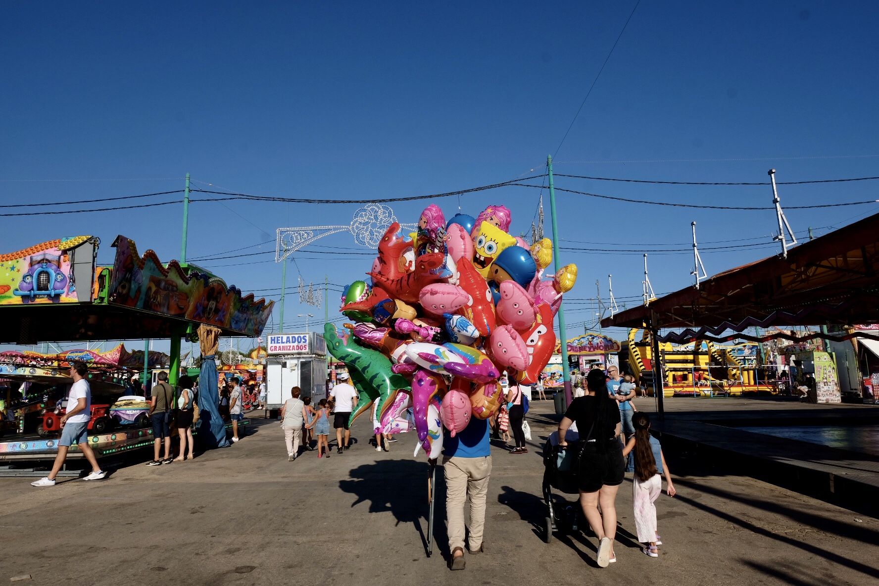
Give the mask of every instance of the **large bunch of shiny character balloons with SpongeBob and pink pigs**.
M 407 431 L 411 408 L 415 452 L 435 459 L 443 426 L 454 437 L 471 417 L 495 413 L 504 400 L 502 370 L 522 384 L 537 381 L 556 346 L 553 320 L 577 266 L 544 279 L 552 242 L 529 247 L 507 233 L 510 222 L 505 206 L 446 222 L 432 205 L 416 232 L 403 235 L 396 222 L 388 228 L 370 284 L 345 288 L 348 335 L 324 326 L 328 350 L 360 392 L 351 423 L 372 406 L 375 433 Z

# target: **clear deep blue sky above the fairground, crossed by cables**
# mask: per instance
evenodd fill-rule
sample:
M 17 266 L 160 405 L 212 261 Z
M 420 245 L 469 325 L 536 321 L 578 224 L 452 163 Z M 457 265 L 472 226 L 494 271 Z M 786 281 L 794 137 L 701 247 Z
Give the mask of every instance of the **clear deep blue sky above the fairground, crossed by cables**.
M 317 199 L 403 197 L 526 177 L 556 153 L 634 5 L 4 4 L 0 194 L 4 204 L 58 202 L 64 210 L 71 199 L 178 189 L 186 172 L 202 182 L 197 187 Z M 644 0 L 558 149 L 556 173 L 730 182 L 766 181 L 770 167 L 779 181 L 879 175 L 876 30 L 879 7 L 870 2 Z M 556 185 L 731 206 L 772 199 L 767 186 L 563 177 Z M 877 185 L 782 186 L 780 195 L 786 206 L 871 200 L 879 199 Z M 539 194 L 505 187 L 462 196 L 461 208 L 476 215 L 504 203 L 518 234 L 530 228 Z M 165 197 L 149 201 L 178 196 Z M 425 203 L 394 209 L 403 221 L 417 221 Z M 456 198 L 436 203 L 447 217 L 457 211 Z M 284 226 L 347 224 L 357 207 L 193 203 L 189 257 L 257 245 Z M 797 231 L 811 226 L 823 234 L 877 210 L 790 210 L 788 219 Z M 716 246 L 769 242 L 774 230 L 771 211 L 564 193 L 558 211 L 562 238 L 578 241 L 563 245 L 580 248 L 686 248 L 690 221 L 698 222 L 701 242 Z M 98 259 L 108 262 L 110 243 L 123 234 L 164 260 L 178 257 L 180 228 L 180 205 L 0 216 L 0 249 L 92 234 L 103 241 Z M 306 281 L 360 278 L 368 257 L 327 254 L 355 249 L 365 250 L 350 235 L 318 242 L 290 266 L 288 285 L 297 270 Z M 265 250 L 273 244 L 244 252 Z M 777 250 L 707 250 L 703 259 L 712 273 Z M 244 291 L 277 298 L 280 265 L 272 258 L 203 264 Z M 641 293 L 637 251 L 565 251 L 563 262 L 579 266 L 569 335 L 594 322 L 586 299 L 595 296 L 596 279 L 605 296 L 608 272 L 618 298 Z M 652 254 L 657 293 L 689 284 L 692 263 L 686 252 Z M 338 293 L 331 298 L 334 312 Z M 287 329 L 302 329 L 295 315 L 309 312 L 323 316 L 288 295 Z

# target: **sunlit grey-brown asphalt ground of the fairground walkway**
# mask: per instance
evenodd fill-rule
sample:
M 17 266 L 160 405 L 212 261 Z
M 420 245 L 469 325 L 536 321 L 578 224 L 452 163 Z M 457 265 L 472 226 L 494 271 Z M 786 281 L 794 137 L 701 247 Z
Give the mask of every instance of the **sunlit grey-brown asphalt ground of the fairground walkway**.
M 0 479 L 0 581 L 33 584 L 867 584 L 879 581 L 879 523 L 795 491 L 666 454 L 678 496 L 657 501 L 664 546 L 633 532 L 631 474 L 617 499 L 617 563 L 598 568 L 585 532 L 544 543 L 541 445 L 555 423 L 532 402 L 530 452 L 492 448 L 485 550 L 447 569 L 441 468 L 432 557 L 427 474 L 414 434 L 390 452 L 358 442 L 287 462 L 280 424 L 257 419 L 236 445 L 105 481 Z M 335 440 L 333 440 L 333 444 Z M 572 501 L 573 496 L 561 496 Z

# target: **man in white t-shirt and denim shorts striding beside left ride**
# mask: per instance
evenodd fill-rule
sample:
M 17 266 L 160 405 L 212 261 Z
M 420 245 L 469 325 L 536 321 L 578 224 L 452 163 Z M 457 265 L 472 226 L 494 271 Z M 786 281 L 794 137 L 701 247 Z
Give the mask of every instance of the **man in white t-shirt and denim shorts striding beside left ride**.
M 106 473 L 98 466 L 95 452 L 89 446 L 89 420 L 91 419 L 91 387 L 85 380 L 88 373 L 83 362 L 76 361 L 70 365 L 70 376 L 73 384 L 67 395 L 67 411 L 61 418 L 61 439 L 58 440 L 58 455 L 55 456 L 54 464 L 49 475 L 40 478 L 39 481 L 31 482 L 34 487 L 51 487 L 55 484 L 55 478 L 67 459 L 67 452 L 71 445 L 76 444 L 85 459 L 91 464 L 91 474 L 83 478 L 84 481 L 98 481 L 106 477 Z

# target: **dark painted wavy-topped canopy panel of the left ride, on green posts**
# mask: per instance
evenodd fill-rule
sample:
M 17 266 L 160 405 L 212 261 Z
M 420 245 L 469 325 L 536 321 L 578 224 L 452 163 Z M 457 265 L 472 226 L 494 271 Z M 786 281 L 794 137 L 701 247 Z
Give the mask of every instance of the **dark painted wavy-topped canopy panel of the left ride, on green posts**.
M 134 242 L 117 236 L 116 259 L 107 300 L 112 305 L 134 307 L 205 325 L 258 336 L 272 315 L 273 301 L 243 296 L 222 279 L 183 269 L 176 260 L 167 266 L 147 250 L 141 257 Z

